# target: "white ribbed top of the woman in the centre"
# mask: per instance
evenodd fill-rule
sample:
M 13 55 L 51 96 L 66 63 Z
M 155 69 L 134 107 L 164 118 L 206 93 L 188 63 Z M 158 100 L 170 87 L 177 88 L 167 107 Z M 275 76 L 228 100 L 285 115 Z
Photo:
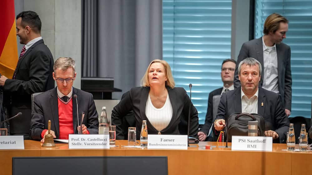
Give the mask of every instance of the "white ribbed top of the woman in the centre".
M 145 106 L 145 114 L 149 119 L 149 122 L 154 126 L 155 129 L 158 130 L 158 134 L 160 134 L 159 131 L 166 128 L 172 118 L 172 106 L 169 99 L 169 94 L 167 95 L 165 104 L 159 109 L 154 107 L 149 96 Z

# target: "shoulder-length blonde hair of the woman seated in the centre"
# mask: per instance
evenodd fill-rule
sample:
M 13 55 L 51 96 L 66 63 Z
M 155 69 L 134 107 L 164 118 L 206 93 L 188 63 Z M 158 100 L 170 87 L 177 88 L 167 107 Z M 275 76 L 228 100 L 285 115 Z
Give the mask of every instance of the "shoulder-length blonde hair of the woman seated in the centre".
M 163 67 L 165 68 L 165 75 L 167 77 L 166 86 L 169 86 L 170 88 L 174 88 L 175 84 L 174 84 L 174 80 L 173 80 L 173 76 L 172 76 L 171 68 L 170 68 L 169 64 L 166 61 L 159 60 L 159 59 L 153 60 L 151 63 L 149 63 L 149 67 L 147 67 L 146 72 L 145 72 L 143 78 L 141 79 L 141 86 L 145 86 L 145 87 L 150 86 L 150 84 L 149 84 L 149 68 L 151 67 L 151 65 L 153 63 L 162 63 L 163 64 Z

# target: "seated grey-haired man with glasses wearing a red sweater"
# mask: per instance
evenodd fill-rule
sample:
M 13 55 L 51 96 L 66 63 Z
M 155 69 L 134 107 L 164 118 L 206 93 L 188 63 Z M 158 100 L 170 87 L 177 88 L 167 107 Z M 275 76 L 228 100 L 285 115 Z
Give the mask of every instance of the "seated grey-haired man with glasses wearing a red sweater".
M 82 134 L 98 133 L 98 113 L 92 94 L 72 87 L 77 75 L 75 67 L 73 58 L 61 57 L 55 61 L 53 79 L 57 87 L 34 98 L 31 139 L 44 142 L 48 120 L 54 138 L 68 139 L 68 134 L 79 132 L 82 116 Z

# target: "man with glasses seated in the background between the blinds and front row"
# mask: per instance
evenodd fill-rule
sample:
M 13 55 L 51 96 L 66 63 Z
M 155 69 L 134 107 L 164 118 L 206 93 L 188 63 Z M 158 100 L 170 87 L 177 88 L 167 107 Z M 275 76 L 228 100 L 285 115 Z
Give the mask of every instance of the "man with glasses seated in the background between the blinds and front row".
M 212 118 L 213 118 L 213 96 L 220 95 L 225 92 L 226 88 L 225 85 L 228 84 L 228 90 L 233 90 L 234 85 L 234 71 L 235 71 L 236 61 L 233 59 L 226 59 L 222 62 L 221 67 L 221 78 L 223 82 L 223 87 L 213 90 L 209 93 L 208 97 L 208 107 L 207 107 L 207 113 L 206 113 L 206 120 L 205 124 L 202 125 L 202 129 L 197 133 L 198 139 L 200 141 L 214 141 L 213 140 L 213 132 L 212 132 Z

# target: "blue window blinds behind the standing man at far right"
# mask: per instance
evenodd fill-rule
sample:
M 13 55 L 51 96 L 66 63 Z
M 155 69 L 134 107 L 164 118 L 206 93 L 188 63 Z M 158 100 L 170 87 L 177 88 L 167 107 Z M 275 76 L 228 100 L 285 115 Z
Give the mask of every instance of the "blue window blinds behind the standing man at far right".
M 263 23 L 272 13 L 289 20 L 286 39 L 291 48 L 291 117 L 311 116 L 312 99 L 312 0 L 256 0 L 255 37 L 263 35 Z

